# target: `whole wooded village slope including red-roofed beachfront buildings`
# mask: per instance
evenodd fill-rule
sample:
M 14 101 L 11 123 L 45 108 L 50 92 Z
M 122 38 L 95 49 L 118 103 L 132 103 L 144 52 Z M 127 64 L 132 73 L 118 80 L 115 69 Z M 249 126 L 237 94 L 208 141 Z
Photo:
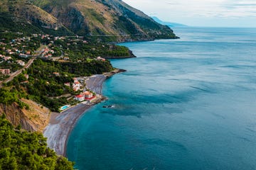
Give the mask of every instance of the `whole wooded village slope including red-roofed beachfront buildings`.
M 127 47 L 79 36 L 25 36 L 5 31 L 0 33 L 0 86 L 13 86 L 13 91 L 22 94 L 18 96 L 26 91 L 26 98 L 60 112 L 63 106 L 101 100 L 102 96 L 87 89 L 86 80 L 92 74 L 112 71 L 105 57 L 129 55 Z

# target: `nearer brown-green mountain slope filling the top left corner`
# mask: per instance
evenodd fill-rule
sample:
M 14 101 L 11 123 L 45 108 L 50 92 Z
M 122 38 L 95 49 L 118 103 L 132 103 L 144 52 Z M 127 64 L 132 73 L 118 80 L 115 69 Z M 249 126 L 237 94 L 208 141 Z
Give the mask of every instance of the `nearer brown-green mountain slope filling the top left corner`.
M 71 34 L 57 18 L 26 0 L 1 0 L 0 21 L 0 30 Z

